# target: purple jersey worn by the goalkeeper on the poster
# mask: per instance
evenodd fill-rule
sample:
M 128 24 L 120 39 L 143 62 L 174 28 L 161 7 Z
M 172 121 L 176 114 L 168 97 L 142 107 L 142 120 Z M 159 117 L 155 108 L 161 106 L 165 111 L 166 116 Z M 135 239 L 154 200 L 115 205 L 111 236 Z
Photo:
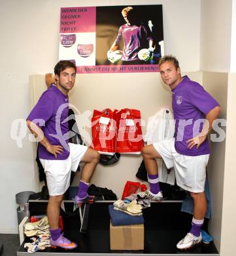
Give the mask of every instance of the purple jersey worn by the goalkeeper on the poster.
M 139 60 L 138 53 L 143 48 L 148 48 L 148 42 L 153 39 L 150 32 L 143 26 L 124 24 L 120 26 L 116 43 L 119 44 L 120 40 L 124 39 L 124 49 L 122 60 Z

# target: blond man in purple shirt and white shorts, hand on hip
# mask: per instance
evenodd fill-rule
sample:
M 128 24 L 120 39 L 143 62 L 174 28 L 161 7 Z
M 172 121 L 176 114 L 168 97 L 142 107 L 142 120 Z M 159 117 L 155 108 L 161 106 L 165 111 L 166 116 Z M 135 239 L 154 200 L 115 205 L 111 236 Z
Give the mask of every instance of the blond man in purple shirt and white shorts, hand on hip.
M 178 186 L 189 191 L 194 200 L 192 228 L 177 244 L 178 249 L 188 249 L 202 240 L 200 228 L 207 210 L 204 186 L 210 154 L 207 135 L 220 113 L 220 106 L 199 83 L 191 81 L 188 76 L 181 77 L 175 57 L 163 56 L 159 65 L 161 78 L 172 91 L 175 135 L 173 139 L 143 148 L 150 183 L 150 190 L 144 193 L 152 200 L 161 201 L 163 198 L 156 158 L 162 158 L 168 169 L 175 167 Z

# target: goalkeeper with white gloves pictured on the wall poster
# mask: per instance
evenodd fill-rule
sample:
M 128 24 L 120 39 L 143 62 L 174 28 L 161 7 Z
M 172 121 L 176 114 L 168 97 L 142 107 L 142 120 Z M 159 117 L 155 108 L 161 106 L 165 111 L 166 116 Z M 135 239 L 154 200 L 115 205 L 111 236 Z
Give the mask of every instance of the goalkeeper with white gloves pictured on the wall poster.
M 107 52 L 108 60 L 115 63 L 121 59 L 123 65 L 148 64 L 155 49 L 149 28 L 137 22 L 133 7 L 124 8 L 122 16 L 126 24 L 120 26 L 118 35 Z M 122 38 L 124 48 L 123 51 L 119 51 L 118 47 Z

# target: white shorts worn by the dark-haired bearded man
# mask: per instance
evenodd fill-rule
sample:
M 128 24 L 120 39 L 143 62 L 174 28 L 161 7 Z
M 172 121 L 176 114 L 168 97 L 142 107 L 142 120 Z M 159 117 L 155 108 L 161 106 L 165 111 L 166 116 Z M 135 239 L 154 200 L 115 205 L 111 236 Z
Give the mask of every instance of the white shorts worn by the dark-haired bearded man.
M 69 143 L 70 154 L 66 160 L 40 159 L 46 175 L 50 196 L 60 196 L 69 188 L 71 171 L 78 169 L 78 164 L 84 157 L 88 146 Z

